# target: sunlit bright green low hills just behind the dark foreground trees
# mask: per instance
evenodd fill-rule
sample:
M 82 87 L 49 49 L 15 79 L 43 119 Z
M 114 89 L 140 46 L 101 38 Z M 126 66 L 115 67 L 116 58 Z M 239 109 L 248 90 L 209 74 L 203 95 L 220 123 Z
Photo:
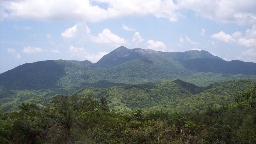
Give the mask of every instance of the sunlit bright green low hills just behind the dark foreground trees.
M 136 109 L 191 112 L 205 112 L 208 106 L 229 104 L 238 91 L 253 85 L 251 80 L 235 80 L 216 82 L 204 87 L 199 94 L 193 95 L 192 85 L 179 85 L 186 83 L 181 80 L 166 81 L 157 85 L 132 85 L 129 87 L 109 87 L 108 89 L 83 88 L 75 94 L 91 94 L 95 98 L 106 97 L 117 111 L 130 112 Z M 177 83 L 175 83 L 177 82 Z M 195 85 L 194 85 L 195 86 Z M 197 87 L 199 88 L 199 87 Z M 202 89 L 201 89 L 202 90 Z M 199 106 L 199 109 L 194 109 Z

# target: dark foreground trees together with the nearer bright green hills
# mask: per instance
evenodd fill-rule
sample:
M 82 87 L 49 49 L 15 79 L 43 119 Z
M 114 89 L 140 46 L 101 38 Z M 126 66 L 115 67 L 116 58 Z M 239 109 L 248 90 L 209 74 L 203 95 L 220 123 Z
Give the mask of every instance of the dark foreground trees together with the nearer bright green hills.
M 21 103 L 1 113 L 2 143 L 256 143 L 256 83 L 218 82 L 192 95 L 173 82 L 96 89 L 55 95 L 49 105 Z M 113 100 L 126 93 L 131 112 L 118 112 Z M 140 95 L 143 94 L 144 95 Z M 150 96 L 155 97 L 155 101 Z M 189 94 L 189 95 L 187 95 Z M 161 97 L 159 97 L 161 95 Z M 134 96 L 133 98 L 128 98 Z M 159 97 L 159 98 L 158 98 Z M 160 103 L 159 109 L 136 102 Z M 135 99 L 134 101 L 132 101 Z M 129 102 L 131 101 L 131 102 Z M 132 107 L 130 107 L 132 108 Z

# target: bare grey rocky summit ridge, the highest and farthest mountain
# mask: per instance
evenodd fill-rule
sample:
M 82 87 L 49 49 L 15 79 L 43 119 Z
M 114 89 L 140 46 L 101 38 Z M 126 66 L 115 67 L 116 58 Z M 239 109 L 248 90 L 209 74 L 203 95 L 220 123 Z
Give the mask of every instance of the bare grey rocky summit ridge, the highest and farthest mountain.
M 217 56 L 210 54 L 208 51 L 198 51 L 198 50 L 189 50 L 183 53 L 181 52 L 162 52 L 154 50 L 145 50 L 141 48 L 127 49 L 124 46 L 118 47 L 117 49 L 111 51 L 109 54 L 104 55 L 97 63 L 93 63 L 90 67 L 97 68 L 110 68 L 117 66 L 121 63 L 145 58 L 145 57 L 167 57 L 172 58 L 175 61 L 185 61 L 195 58 L 211 58 L 211 59 L 221 59 Z

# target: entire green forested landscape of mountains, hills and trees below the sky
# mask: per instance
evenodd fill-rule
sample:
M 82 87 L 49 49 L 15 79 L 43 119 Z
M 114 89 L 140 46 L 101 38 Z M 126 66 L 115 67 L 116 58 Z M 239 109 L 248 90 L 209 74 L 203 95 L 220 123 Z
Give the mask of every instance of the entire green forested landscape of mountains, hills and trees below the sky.
M 2 143 L 256 143 L 256 63 L 119 47 L 0 74 Z

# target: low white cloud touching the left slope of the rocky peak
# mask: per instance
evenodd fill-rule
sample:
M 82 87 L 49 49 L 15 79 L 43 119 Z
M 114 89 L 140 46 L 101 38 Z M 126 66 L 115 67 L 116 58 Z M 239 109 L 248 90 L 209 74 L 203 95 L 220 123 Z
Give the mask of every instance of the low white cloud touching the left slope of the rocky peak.
M 74 46 L 69 46 L 69 53 L 71 54 L 71 57 L 76 57 L 76 58 L 79 58 L 80 60 L 89 60 L 93 63 L 97 62 L 104 55 L 108 54 L 105 51 L 94 54 L 94 53 L 90 53 L 89 51 L 87 51 L 87 49 L 83 47 L 74 47 Z

